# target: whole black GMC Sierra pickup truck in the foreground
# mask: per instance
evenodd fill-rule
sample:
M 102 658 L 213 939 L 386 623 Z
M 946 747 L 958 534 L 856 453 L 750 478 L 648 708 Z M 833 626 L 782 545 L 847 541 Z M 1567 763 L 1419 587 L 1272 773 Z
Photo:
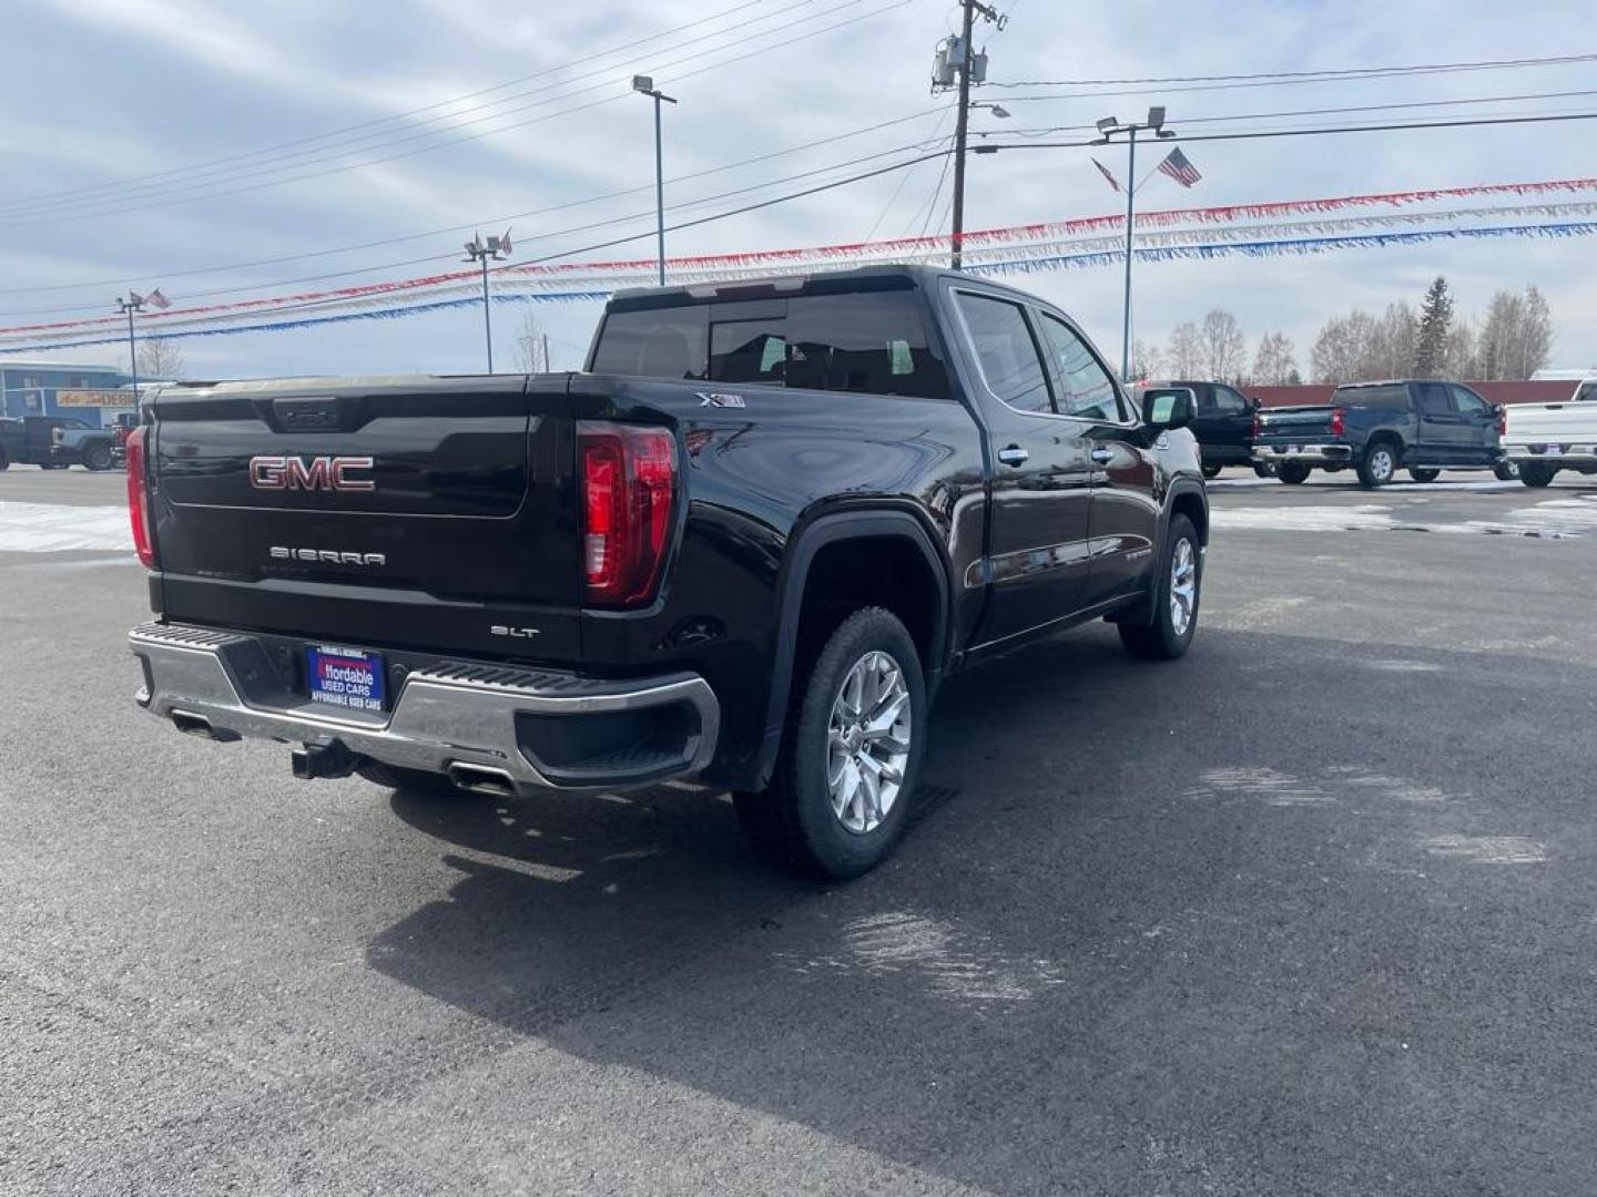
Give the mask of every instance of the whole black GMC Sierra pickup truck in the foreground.
M 1092 618 L 1191 643 L 1191 397 L 1142 399 L 1057 310 L 912 267 L 623 292 L 585 373 L 163 386 L 137 701 L 300 777 L 698 777 L 853 876 L 950 670 Z

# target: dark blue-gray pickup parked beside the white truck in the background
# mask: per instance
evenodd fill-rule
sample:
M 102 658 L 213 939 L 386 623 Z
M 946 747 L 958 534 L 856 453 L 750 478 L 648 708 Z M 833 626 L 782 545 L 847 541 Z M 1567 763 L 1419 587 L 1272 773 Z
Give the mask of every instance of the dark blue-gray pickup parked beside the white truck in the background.
M 1254 461 L 1287 484 L 1314 469 L 1354 469 L 1370 488 L 1385 487 L 1401 468 L 1415 482 L 1434 482 L 1444 469 L 1492 469 L 1511 479 L 1501 431 L 1503 409 L 1460 383 L 1348 383 L 1329 404 L 1258 412 Z

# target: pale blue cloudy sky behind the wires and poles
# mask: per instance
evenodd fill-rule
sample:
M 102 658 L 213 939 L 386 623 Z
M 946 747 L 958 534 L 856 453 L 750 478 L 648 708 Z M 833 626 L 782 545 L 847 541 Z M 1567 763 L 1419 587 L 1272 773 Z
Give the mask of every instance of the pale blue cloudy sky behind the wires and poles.
M 993 83 L 1597 51 L 1589 14 L 1567 0 L 1009 0 L 1006 8 L 1008 27 L 979 38 Z M 129 284 L 160 282 L 174 302 L 198 303 L 206 294 L 238 298 L 449 270 L 476 223 L 485 233 L 511 223 L 519 259 L 648 233 L 652 123 L 648 102 L 629 91 L 634 72 L 653 73 L 680 99 L 666 112 L 668 177 L 808 147 L 669 187 L 668 203 L 690 204 L 770 184 L 684 217 L 862 169 L 824 172 L 947 134 L 949 101 L 928 94 L 928 73 L 957 21 L 947 0 L 5 0 L 5 10 L 0 324 L 99 314 Z M 1179 129 L 1212 117 L 1247 118 L 1233 128 L 1313 124 L 1343 118 L 1265 113 L 1437 101 L 1471 102 L 1365 115 L 1583 112 L 1597 110 L 1597 94 L 1554 93 L 1597 89 L 1594 78 L 1594 64 L 1581 62 L 1266 88 L 1171 85 L 1132 96 L 1104 93 L 1147 89 L 990 86 L 981 99 L 1003 102 L 1012 117 L 982 112 L 973 128 L 1016 140 L 1016 129 L 1132 117 L 1150 101 L 1163 101 Z M 1535 99 L 1485 102 L 1506 96 Z M 414 115 L 393 120 L 401 113 Z M 896 123 L 861 132 L 885 121 Z M 454 144 L 431 148 L 441 142 Z M 1203 182 L 1182 192 L 1153 176 L 1147 206 L 1594 176 L 1597 121 L 1185 150 Z M 1123 171 L 1123 150 L 1097 153 Z M 808 177 L 792 180 L 800 174 Z M 937 185 L 939 164 L 925 163 L 677 233 L 669 251 L 917 233 L 942 217 L 947 190 L 933 203 Z M 969 228 L 1104 214 L 1116 203 L 1084 150 L 971 160 Z M 529 212 L 540 214 L 506 220 Z M 599 227 L 572 231 L 581 225 Z M 607 251 L 618 252 L 644 257 L 650 243 Z M 251 265 L 268 259 L 284 260 Z M 1498 287 L 1538 284 L 1557 324 L 1554 364 L 1597 362 L 1597 238 L 1147 265 L 1137 335 L 1163 340 L 1175 322 L 1223 306 L 1250 343 L 1284 329 L 1306 365 L 1327 316 L 1417 302 L 1437 273 L 1464 311 L 1484 308 Z M 1118 268 L 1022 284 L 1073 311 L 1118 356 Z M 501 364 L 519 313 L 495 306 Z M 538 306 L 557 367 L 580 364 L 596 314 L 592 303 Z M 466 372 L 482 365 L 481 311 L 195 338 L 184 353 L 188 372 L 208 377 Z M 113 348 L 53 356 L 121 361 Z

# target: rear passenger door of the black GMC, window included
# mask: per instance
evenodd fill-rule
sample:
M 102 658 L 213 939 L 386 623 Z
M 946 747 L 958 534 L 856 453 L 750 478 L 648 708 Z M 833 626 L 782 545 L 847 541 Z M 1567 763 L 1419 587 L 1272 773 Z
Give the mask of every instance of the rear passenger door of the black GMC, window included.
M 981 640 L 1064 619 L 1089 568 L 1092 464 L 1083 426 L 1054 412 L 1052 372 L 1033 316 L 1008 297 L 960 284 L 949 298 L 973 359 L 968 375 L 989 433 L 992 482 Z

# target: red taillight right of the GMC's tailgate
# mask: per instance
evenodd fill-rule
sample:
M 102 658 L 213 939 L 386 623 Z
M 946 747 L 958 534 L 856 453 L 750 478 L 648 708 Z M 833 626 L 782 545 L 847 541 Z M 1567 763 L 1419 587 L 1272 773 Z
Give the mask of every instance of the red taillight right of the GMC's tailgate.
M 663 428 L 580 423 L 583 595 L 636 606 L 660 581 L 677 496 L 677 444 Z

